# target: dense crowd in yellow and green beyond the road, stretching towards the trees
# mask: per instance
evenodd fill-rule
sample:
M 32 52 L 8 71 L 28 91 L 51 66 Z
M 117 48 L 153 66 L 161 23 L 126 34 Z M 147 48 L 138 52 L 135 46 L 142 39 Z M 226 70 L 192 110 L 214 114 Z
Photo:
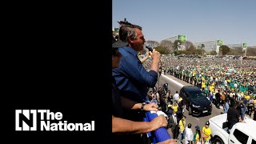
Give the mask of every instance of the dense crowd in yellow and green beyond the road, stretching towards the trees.
M 150 59 L 143 63 L 147 68 Z M 234 102 L 239 102 L 242 119 L 245 114 L 255 120 L 256 61 L 223 58 L 186 58 L 162 55 L 161 73 L 198 86 L 217 108 L 227 113 Z

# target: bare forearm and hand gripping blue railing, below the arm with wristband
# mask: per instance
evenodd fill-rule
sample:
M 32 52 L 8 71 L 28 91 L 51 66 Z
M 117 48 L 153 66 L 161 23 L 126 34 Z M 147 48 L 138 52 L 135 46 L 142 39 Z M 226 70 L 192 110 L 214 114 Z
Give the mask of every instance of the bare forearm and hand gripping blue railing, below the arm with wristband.
M 159 127 L 167 126 L 167 120 L 159 115 L 151 122 L 134 122 L 112 115 L 112 133 L 142 134 L 157 130 Z

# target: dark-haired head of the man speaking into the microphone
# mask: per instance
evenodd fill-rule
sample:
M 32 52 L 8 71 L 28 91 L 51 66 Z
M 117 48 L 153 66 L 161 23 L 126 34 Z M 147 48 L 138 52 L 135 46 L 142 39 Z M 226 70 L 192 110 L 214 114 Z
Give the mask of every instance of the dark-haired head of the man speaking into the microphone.
M 143 50 L 146 42 L 142 27 L 133 24 L 122 25 L 119 29 L 119 38 L 123 42 L 128 42 L 128 45 L 136 51 Z

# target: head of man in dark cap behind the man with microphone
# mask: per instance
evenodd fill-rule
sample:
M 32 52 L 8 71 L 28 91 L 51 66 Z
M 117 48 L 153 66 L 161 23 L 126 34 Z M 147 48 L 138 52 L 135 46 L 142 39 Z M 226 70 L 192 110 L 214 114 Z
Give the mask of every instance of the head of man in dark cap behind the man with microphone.
M 127 42 L 116 42 L 114 39 L 112 39 L 112 69 L 119 66 L 120 58 L 122 57 L 122 54 L 118 51 L 118 47 L 123 47 L 127 45 Z

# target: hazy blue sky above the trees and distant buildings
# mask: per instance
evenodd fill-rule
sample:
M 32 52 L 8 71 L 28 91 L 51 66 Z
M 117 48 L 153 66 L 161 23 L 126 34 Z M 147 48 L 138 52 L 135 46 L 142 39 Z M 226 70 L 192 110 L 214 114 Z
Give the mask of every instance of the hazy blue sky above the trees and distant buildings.
M 256 46 L 256 0 L 113 0 L 112 26 L 142 26 L 146 40 L 185 34 L 190 42 Z

